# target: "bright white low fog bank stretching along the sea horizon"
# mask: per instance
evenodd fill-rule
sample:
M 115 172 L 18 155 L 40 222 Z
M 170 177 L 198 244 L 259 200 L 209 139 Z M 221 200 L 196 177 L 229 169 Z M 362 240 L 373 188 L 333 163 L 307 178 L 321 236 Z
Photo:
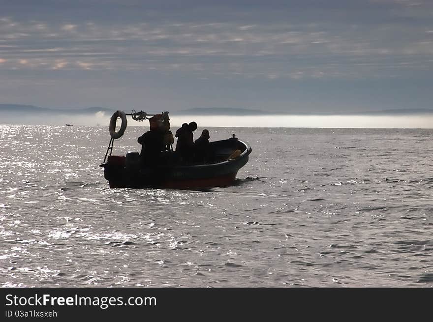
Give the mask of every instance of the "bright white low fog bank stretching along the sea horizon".
M 6 114 L 2 124 L 108 126 L 111 115 L 104 112 L 82 115 Z M 193 116 L 170 115 L 173 128 L 196 121 L 200 127 L 319 127 L 319 128 L 433 128 L 433 115 L 263 115 L 263 116 Z M 118 120 L 120 125 L 120 119 Z M 148 126 L 128 117 L 128 126 Z

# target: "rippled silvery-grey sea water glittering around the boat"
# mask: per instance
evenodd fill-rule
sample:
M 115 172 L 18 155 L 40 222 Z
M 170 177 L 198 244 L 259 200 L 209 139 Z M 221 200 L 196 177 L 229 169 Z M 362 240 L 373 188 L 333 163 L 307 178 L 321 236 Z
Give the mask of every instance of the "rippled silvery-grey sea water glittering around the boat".
M 0 125 L 0 286 L 433 286 L 433 130 L 232 133 L 235 185 L 138 190 L 108 188 L 106 126 Z

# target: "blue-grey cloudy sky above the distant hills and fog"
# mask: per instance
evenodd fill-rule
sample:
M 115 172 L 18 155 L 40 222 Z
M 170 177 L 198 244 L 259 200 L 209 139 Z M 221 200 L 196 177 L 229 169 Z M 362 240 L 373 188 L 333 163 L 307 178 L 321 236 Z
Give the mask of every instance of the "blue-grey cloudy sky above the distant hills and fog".
M 432 108 L 432 0 L 0 0 L 0 103 Z

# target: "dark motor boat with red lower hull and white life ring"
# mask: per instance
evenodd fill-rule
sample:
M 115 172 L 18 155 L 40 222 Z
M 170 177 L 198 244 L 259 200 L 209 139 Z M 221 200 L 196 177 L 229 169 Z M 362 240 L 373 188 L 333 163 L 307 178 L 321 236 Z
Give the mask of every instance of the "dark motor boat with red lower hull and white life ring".
M 155 166 L 144 165 L 138 152 L 112 154 L 114 140 L 122 137 L 126 129 L 126 116 L 131 116 L 136 121 L 149 119 L 152 128 L 152 119 L 155 117 L 168 123 L 168 113 L 155 115 L 132 110 L 128 114 L 123 111 L 113 114 L 110 119 L 110 143 L 104 161 L 100 164 L 110 188 L 202 189 L 232 185 L 238 171 L 247 164 L 252 151 L 251 146 L 236 138 L 235 134 L 226 140 L 210 142 L 211 157 L 206 163 L 182 164 L 172 147 L 161 151 Z M 116 132 L 116 121 L 119 118 L 122 125 Z

